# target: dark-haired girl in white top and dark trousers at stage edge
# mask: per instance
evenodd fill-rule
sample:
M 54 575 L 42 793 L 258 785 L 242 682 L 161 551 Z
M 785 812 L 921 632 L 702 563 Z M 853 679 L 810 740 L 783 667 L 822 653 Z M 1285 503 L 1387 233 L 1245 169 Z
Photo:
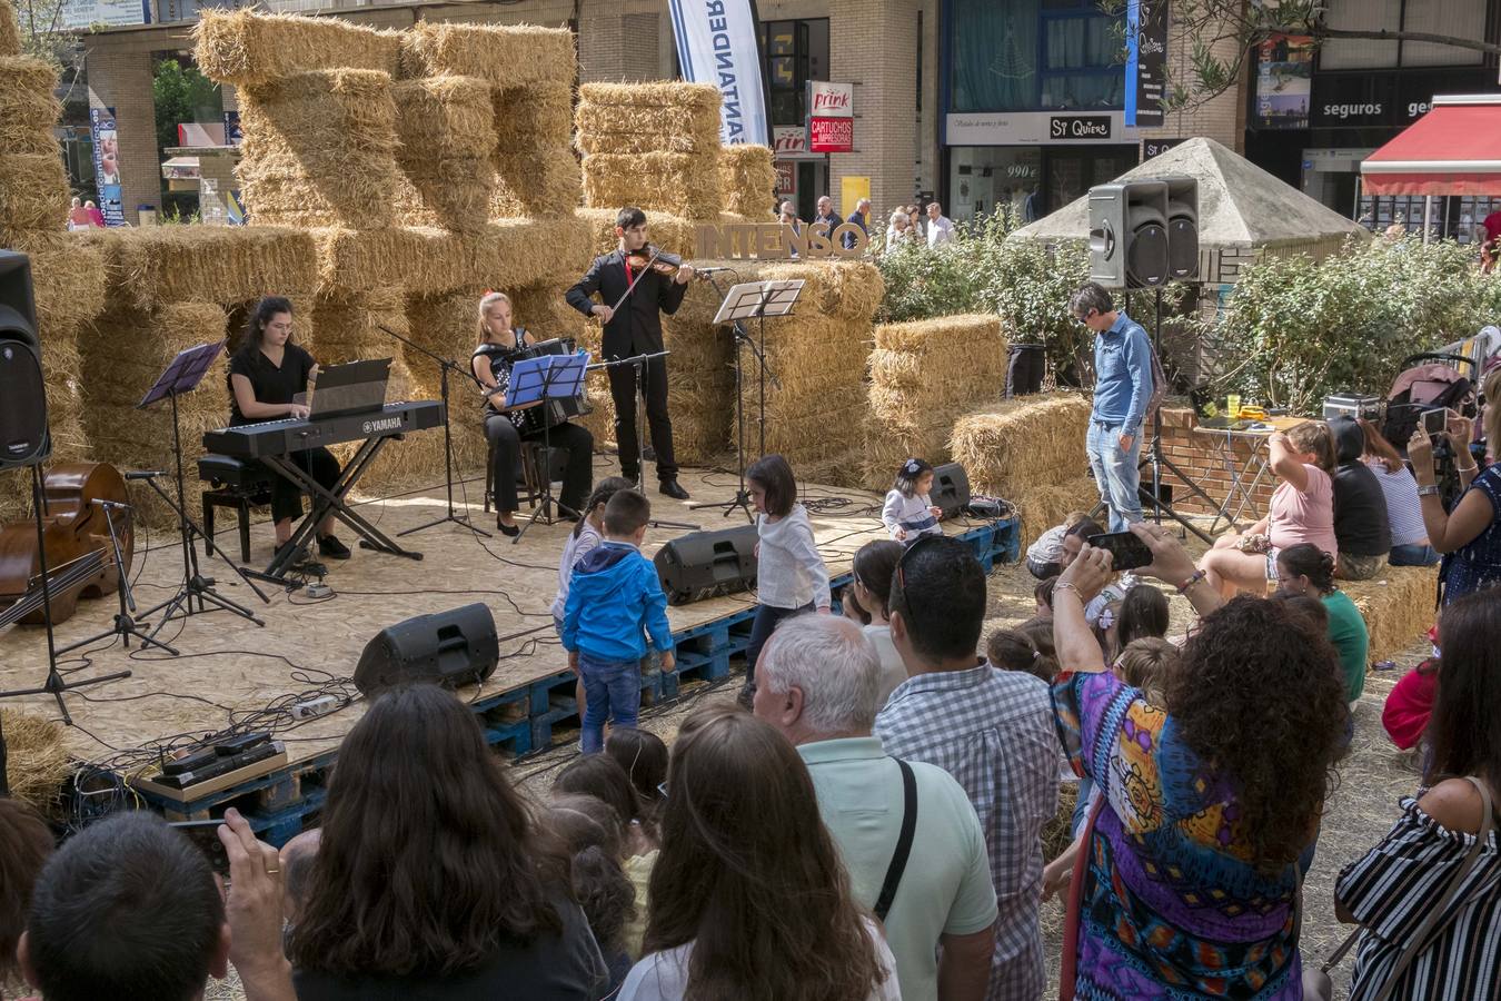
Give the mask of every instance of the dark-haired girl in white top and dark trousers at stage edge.
M 815 608 L 827 612 L 829 570 L 814 542 L 808 509 L 797 503 L 793 467 L 779 455 L 757 459 L 746 470 L 746 488 L 757 509 L 757 609 L 746 647 L 746 686 L 740 698 L 749 707 L 755 693 L 755 662 L 776 624 Z

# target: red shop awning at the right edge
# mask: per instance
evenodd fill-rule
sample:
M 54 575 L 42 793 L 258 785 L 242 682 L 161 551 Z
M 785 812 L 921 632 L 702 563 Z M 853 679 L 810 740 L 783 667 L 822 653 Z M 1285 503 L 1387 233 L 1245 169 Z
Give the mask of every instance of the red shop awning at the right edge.
M 1433 98 L 1360 177 L 1366 195 L 1501 195 L 1501 95 Z

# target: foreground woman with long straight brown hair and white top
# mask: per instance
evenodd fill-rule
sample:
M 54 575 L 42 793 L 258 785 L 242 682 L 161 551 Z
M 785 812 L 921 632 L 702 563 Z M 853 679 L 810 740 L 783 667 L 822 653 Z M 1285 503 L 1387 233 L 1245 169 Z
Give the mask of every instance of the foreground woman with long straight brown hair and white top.
M 668 767 L 647 956 L 620 1001 L 896 1001 L 791 741 L 729 707 L 684 722 Z

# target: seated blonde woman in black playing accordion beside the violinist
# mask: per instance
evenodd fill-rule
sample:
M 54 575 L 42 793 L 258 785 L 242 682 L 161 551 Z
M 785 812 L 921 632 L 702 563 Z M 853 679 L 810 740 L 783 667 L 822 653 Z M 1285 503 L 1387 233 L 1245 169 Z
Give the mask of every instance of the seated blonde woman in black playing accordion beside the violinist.
M 485 389 L 494 389 L 501 378 L 509 378 L 516 353 L 530 344 L 534 341 L 524 329 L 510 326 L 510 299 L 504 293 L 486 293 L 479 300 L 479 347 L 470 357 L 474 378 L 483 383 Z M 518 507 L 516 473 L 521 470 L 521 443 L 543 440 L 540 407 L 522 404 L 506 408 L 504 393 L 489 396 L 485 404 L 485 437 L 495 455 L 492 488 L 495 527 L 501 534 L 515 536 L 521 531 L 513 516 Z M 564 518 L 576 519 L 578 512 L 584 510 L 594 479 L 594 435 L 579 425 L 560 423 L 548 431 L 548 438 L 554 449 L 567 452 L 558 506 L 563 507 Z

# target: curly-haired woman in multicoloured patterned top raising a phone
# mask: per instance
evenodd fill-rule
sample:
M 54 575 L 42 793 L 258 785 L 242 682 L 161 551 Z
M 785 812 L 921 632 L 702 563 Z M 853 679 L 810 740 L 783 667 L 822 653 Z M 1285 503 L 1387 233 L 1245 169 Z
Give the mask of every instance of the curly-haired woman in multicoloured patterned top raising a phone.
M 1220 596 L 1156 525 L 1142 572 L 1202 615 L 1163 705 L 1105 669 L 1084 603 L 1109 554 L 1085 548 L 1054 591 L 1058 731 L 1102 789 L 1069 920 L 1081 998 L 1300 998 L 1298 860 L 1318 834 L 1343 735 L 1334 650 L 1282 602 Z M 1075 995 L 1070 995 L 1075 996 Z

